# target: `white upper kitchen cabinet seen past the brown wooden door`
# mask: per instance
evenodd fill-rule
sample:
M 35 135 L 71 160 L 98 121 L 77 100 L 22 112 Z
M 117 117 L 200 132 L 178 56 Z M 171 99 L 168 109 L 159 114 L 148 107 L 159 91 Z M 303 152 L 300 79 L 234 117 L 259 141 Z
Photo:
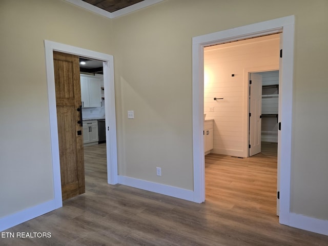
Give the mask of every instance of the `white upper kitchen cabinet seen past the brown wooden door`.
M 83 108 L 101 107 L 100 78 L 80 74 L 81 101 Z

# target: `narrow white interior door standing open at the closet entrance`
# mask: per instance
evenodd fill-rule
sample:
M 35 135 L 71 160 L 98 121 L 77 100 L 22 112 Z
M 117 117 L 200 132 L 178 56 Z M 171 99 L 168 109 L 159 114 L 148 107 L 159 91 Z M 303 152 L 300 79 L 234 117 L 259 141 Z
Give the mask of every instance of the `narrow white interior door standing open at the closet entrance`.
M 262 75 L 250 74 L 249 156 L 261 152 Z

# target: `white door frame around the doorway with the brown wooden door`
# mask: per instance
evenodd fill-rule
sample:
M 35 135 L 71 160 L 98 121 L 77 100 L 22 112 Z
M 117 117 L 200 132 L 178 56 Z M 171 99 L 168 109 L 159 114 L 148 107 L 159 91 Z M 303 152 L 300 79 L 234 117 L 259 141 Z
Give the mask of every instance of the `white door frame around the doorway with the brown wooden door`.
M 106 148 L 107 148 L 107 178 L 108 183 L 115 185 L 118 182 L 117 175 L 117 141 L 116 141 L 116 113 L 115 113 L 115 90 L 114 90 L 114 58 L 112 55 L 86 50 L 74 46 L 55 43 L 45 40 L 46 70 L 48 84 L 49 117 L 50 117 L 50 139 L 52 153 L 52 168 L 54 181 L 54 200 L 56 207 L 62 207 L 60 163 L 58 147 L 57 111 L 55 95 L 55 76 L 53 67 L 53 51 L 74 54 L 91 59 L 103 61 L 105 100 L 105 122 L 106 122 Z

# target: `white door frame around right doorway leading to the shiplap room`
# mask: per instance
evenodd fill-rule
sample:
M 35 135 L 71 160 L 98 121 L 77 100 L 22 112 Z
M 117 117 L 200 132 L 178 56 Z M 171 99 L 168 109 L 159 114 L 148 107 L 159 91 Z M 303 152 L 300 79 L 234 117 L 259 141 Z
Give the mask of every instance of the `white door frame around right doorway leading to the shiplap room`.
M 290 224 L 291 195 L 291 141 L 294 66 L 294 25 L 295 16 L 268 20 L 248 26 L 237 27 L 193 38 L 193 165 L 194 201 L 205 200 L 205 167 L 203 147 L 204 112 L 204 53 L 209 45 L 222 44 L 245 38 L 258 37 L 282 32 L 283 61 L 281 64 L 281 94 L 279 93 L 279 115 L 282 122 L 281 139 L 278 139 L 278 163 L 280 162 L 280 216 L 279 223 Z M 283 108 L 281 107 L 283 105 Z

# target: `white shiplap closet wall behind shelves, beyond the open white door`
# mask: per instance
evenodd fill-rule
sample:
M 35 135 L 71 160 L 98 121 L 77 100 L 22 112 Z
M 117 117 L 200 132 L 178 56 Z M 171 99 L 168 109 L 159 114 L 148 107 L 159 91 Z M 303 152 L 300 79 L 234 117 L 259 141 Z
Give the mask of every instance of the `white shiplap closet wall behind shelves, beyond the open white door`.
M 265 86 L 279 85 L 279 71 L 261 72 L 262 75 L 262 128 L 261 140 L 278 142 L 278 120 L 276 117 L 265 117 L 266 114 L 278 114 L 278 88 Z

